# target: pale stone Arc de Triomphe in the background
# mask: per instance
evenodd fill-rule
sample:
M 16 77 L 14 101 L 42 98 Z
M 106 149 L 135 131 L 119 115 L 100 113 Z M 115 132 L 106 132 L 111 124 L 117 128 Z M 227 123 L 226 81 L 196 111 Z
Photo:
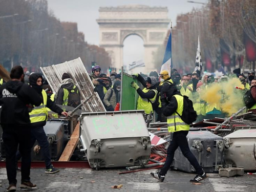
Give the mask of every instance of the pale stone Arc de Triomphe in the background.
M 156 70 L 153 52 L 163 44 L 168 30 L 167 7 L 130 5 L 100 7 L 99 24 L 100 47 L 112 58 L 112 67 L 117 71 L 123 65 L 123 41 L 132 34 L 139 35 L 144 42 L 144 72 Z M 159 70 L 159 69 L 158 69 Z

